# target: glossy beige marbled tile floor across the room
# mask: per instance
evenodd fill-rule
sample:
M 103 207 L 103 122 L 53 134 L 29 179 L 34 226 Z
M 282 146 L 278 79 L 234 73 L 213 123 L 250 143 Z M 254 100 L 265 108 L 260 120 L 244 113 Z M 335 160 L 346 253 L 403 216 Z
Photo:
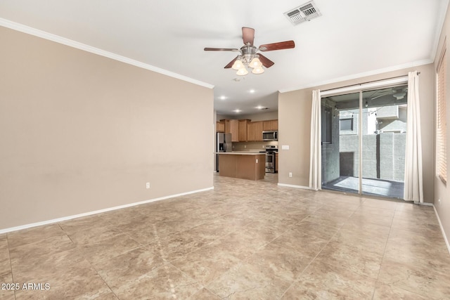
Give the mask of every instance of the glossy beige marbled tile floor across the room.
M 0 299 L 449 299 L 432 207 L 269 177 L 0 235 Z

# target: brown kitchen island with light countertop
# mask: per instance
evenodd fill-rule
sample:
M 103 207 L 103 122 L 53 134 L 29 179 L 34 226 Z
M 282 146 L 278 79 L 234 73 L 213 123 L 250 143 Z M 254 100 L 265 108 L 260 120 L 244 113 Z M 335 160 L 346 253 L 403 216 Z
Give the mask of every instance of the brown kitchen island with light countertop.
M 260 152 L 217 152 L 219 176 L 250 180 L 264 179 L 266 155 Z

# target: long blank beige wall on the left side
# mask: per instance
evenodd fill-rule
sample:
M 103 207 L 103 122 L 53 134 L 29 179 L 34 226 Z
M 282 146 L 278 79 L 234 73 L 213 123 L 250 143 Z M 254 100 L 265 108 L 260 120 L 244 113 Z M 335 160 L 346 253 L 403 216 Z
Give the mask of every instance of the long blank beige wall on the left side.
M 0 230 L 212 187 L 212 89 L 0 36 Z

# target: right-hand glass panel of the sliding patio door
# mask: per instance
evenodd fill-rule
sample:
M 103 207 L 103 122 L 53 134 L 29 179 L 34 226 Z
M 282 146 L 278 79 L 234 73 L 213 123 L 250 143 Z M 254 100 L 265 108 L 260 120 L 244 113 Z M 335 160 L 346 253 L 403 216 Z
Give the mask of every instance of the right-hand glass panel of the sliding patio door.
M 407 86 L 364 91 L 361 193 L 403 199 Z

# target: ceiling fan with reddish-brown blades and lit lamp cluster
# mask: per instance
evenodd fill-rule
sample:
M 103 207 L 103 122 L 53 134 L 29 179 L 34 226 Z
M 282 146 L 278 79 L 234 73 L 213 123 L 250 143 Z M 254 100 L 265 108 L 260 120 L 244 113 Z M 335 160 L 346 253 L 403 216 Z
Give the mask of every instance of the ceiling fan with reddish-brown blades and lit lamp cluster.
M 253 45 L 255 39 L 255 30 L 250 27 L 242 27 L 242 37 L 244 46 L 238 48 L 205 48 L 205 51 L 238 51 L 239 55 L 236 56 L 231 62 L 225 66 L 225 69 L 230 67 L 234 70 L 238 70 L 236 74 L 246 75 L 248 74 L 247 66 L 252 67 L 252 73 L 261 74 L 264 72 L 264 67 L 271 67 L 275 63 L 269 58 L 266 58 L 258 51 L 274 51 L 281 49 L 295 48 L 294 41 L 281 41 L 278 43 L 264 44 L 257 48 Z

